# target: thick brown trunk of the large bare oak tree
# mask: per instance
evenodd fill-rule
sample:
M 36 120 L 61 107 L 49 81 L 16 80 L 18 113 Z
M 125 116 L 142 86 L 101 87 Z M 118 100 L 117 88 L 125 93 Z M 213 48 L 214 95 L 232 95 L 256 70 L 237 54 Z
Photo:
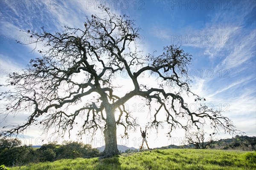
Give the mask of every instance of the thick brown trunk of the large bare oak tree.
M 116 119 L 115 119 L 115 109 L 113 107 L 106 110 L 106 127 L 103 131 L 105 137 L 105 150 L 102 152 L 100 158 L 107 158 L 115 155 L 120 155 L 117 149 L 116 141 Z

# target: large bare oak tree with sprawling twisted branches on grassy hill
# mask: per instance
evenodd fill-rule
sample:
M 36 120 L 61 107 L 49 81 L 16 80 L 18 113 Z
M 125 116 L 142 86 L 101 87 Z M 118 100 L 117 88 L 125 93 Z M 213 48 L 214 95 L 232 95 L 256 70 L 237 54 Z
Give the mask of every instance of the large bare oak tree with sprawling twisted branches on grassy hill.
M 43 43 L 45 49 L 38 50 L 41 57 L 32 59 L 23 72 L 9 75 L 5 86 L 12 86 L 13 90 L 2 92 L 1 99 L 8 101 L 10 107 L 1 114 L 19 114 L 28 108 L 32 111 L 23 124 L 5 127 L 2 135 L 22 133 L 35 124 L 44 131 L 53 127 L 55 133 L 63 135 L 82 121 L 78 135 L 102 130 L 102 158 L 117 155 L 116 127 L 124 127 L 127 135 L 138 125 L 124 105 L 135 96 L 143 98 L 154 114 L 149 128 L 167 122 L 170 135 L 176 127 L 199 129 L 209 120 L 215 130 L 221 127 L 225 132 L 234 132 L 232 122 L 221 111 L 203 104 L 196 112 L 188 109 L 183 95 L 194 96 L 195 101 L 205 100 L 190 90 L 191 55 L 174 45 L 164 47 L 160 55 L 144 55 L 136 45 L 140 28 L 134 21 L 126 15 L 111 14 L 104 6 L 101 9 L 101 17 L 87 16 L 84 29 L 64 26 L 63 32 L 54 34 L 44 27 L 41 32 L 27 31 L 35 40 L 33 43 Z M 120 72 L 126 72 L 134 86 L 123 96 L 117 92 L 119 86 L 112 83 Z M 155 84 L 146 86 L 139 82 L 142 74 L 155 78 Z M 157 118 L 160 114 L 166 115 L 165 121 Z

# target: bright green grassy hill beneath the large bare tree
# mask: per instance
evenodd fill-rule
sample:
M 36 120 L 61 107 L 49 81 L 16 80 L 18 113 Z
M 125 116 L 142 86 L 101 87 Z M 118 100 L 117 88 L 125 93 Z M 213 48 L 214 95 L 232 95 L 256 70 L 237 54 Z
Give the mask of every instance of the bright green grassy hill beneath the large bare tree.
M 112 158 L 62 159 L 10 170 L 255 170 L 256 152 L 169 149 Z

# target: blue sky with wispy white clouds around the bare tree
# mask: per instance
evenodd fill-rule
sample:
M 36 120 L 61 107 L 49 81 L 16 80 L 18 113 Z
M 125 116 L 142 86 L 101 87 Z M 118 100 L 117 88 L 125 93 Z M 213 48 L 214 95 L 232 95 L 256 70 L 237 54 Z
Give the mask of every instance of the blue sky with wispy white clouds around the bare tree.
M 136 25 L 142 28 L 141 40 L 137 44 L 145 53 L 154 50 L 161 53 L 163 46 L 181 45 L 193 56 L 189 68 L 192 90 L 207 98 L 209 104 L 223 109 L 237 129 L 256 136 L 256 1 L 2 0 L 1 84 L 7 73 L 17 72 L 31 58 L 39 56 L 36 52 L 29 53 L 33 45 L 15 42 L 15 39 L 30 40 L 20 30 L 39 31 L 44 26 L 46 30 L 55 32 L 61 31 L 64 25 L 82 28 L 85 15 L 98 14 L 97 6 L 101 3 L 111 7 L 111 12 L 128 14 L 135 20 Z M 152 130 L 151 134 L 155 131 Z M 136 135 L 140 136 L 139 131 L 131 136 L 134 138 Z M 36 138 L 40 135 L 31 128 L 24 136 Z M 182 137 L 179 131 L 174 136 Z M 164 133 L 149 140 L 153 147 L 172 142 L 165 138 Z M 128 146 L 134 147 L 132 143 L 130 140 Z

